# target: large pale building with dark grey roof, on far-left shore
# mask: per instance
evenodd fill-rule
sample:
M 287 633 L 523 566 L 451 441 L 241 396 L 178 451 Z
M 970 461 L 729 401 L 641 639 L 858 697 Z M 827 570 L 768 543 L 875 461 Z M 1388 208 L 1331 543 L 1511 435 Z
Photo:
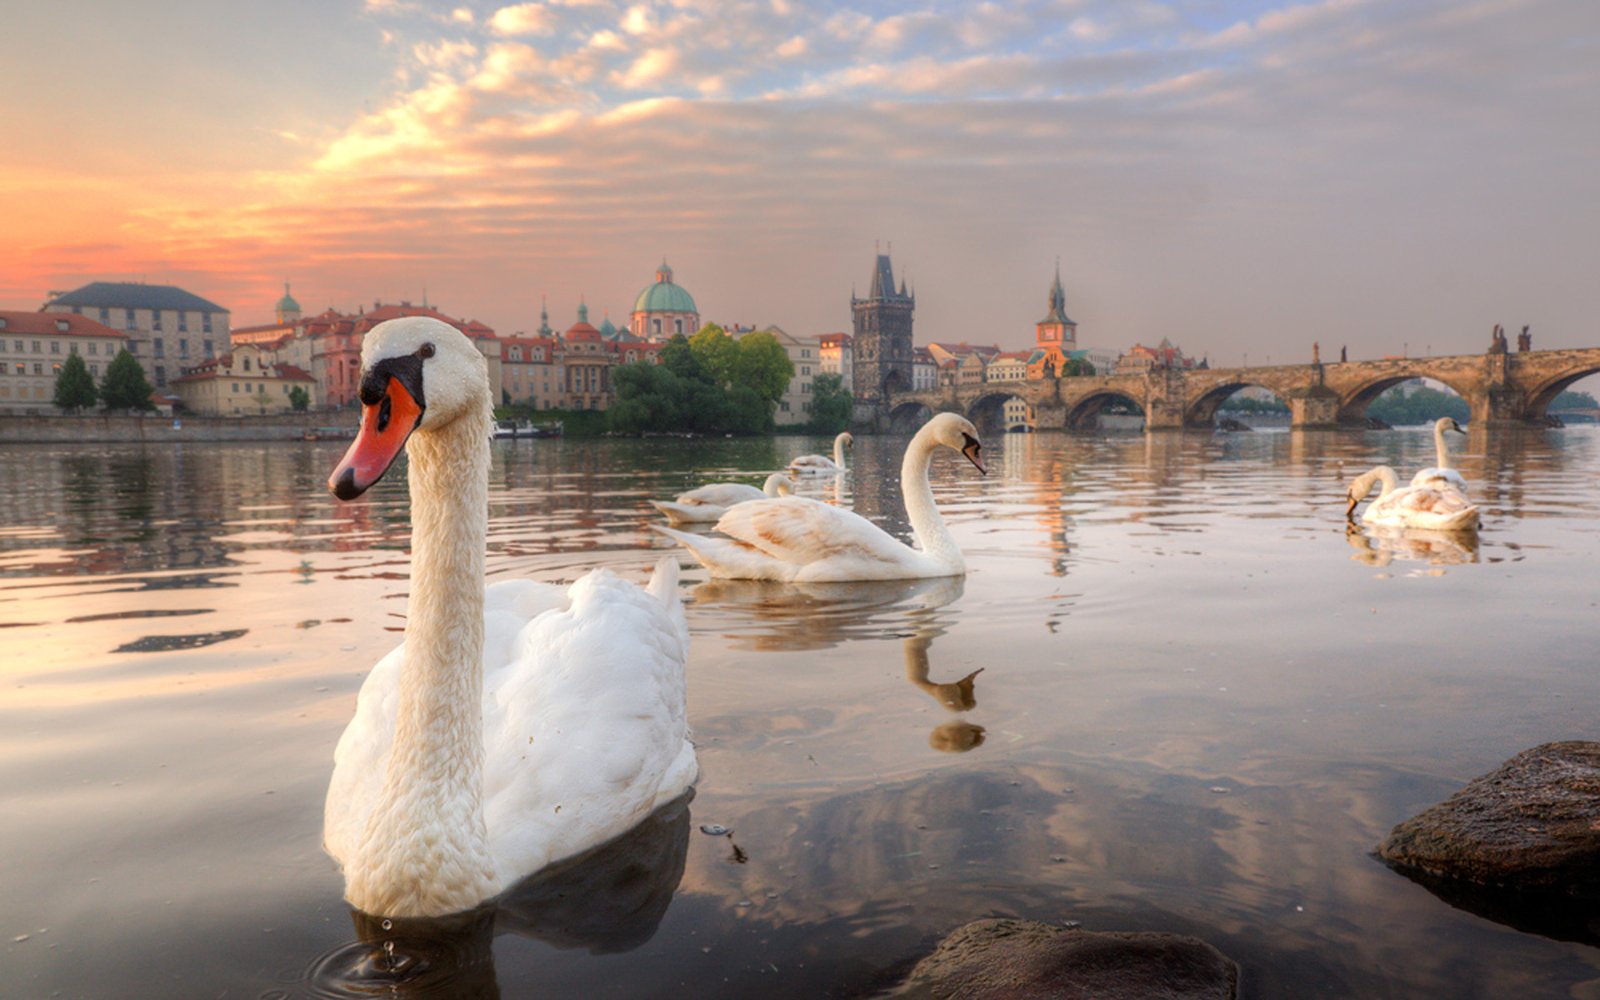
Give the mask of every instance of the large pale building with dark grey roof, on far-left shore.
M 229 346 L 227 309 L 173 285 L 91 282 L 50 293 L 43 312 L 86 315 L 128 336 L 128 350 L 162 389 L 189 365 Z

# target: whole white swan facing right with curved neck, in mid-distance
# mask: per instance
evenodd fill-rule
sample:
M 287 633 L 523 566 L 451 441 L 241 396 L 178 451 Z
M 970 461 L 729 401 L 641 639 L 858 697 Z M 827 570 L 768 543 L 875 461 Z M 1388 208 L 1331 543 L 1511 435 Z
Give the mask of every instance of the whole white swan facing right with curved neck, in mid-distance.
M 982 448 L 978 429 L 963 416 L 941 413 L 910 438 L 901 464 L 901 490 L 918 549 L 859 514 L 805 496 L 736 504 L 717 522 L 717 530 L 730 538 L 654 528 L 675 538 L 712 576 L 723 579 L 826 582 L 958 576 L 966 573 L 966 560 L 939 517 L 928 485 L 928 464 L 941 445 L 987 472 L 978 456 Z

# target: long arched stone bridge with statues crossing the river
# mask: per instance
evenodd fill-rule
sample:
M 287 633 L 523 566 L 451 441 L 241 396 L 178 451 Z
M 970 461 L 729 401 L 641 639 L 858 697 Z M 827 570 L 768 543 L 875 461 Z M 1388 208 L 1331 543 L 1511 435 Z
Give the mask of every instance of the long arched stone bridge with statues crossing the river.
M 1213 427 L 1222 402 L 1250 386 L 1275 392 L 1290 408 L 1293 427 L 1358 427 L 1366 406 L 1386 389 L 1413 378 L 1450 386 L 1472 408 L 1472 424 L 1507 427 L 1547 422 L 1563 389 L 1600 373 L 1600 347 L 1459 354 L 1381 362 L 1272 365 L 1264 368 L 1155 370 L 1149 374 L 1091 374 L 1018 382 L 971 382 L 918 392 L 893 392 L 856 402 L 862 430 L 906 430 L 928 411 L 965 413 L 981 430 L 1002 424 L 1002 406 L 1021 398 L 1034 408 L 1038 430 L 1098 426 L 1114 402 L 1144 414 L 1147 430 Z

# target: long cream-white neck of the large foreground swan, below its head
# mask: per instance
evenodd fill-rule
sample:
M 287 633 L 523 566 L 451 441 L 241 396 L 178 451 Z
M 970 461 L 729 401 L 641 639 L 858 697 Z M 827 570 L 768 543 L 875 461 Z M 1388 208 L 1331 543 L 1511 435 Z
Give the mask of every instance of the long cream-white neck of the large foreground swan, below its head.
M 483 822 L 483 547 L 490 411 L 411 435 L 411 597 L 394 746 L 347 870 L 370 914 L 448 914 L 494 893 Z

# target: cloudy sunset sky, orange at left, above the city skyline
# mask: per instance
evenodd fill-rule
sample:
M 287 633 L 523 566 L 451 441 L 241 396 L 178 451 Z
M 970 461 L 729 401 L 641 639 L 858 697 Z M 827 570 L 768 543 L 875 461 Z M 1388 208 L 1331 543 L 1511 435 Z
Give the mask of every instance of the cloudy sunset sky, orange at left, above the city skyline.
M 850 330 L 1213 365 L 1600 344 L 1590 0 L 0 0 L 0 309 Z

